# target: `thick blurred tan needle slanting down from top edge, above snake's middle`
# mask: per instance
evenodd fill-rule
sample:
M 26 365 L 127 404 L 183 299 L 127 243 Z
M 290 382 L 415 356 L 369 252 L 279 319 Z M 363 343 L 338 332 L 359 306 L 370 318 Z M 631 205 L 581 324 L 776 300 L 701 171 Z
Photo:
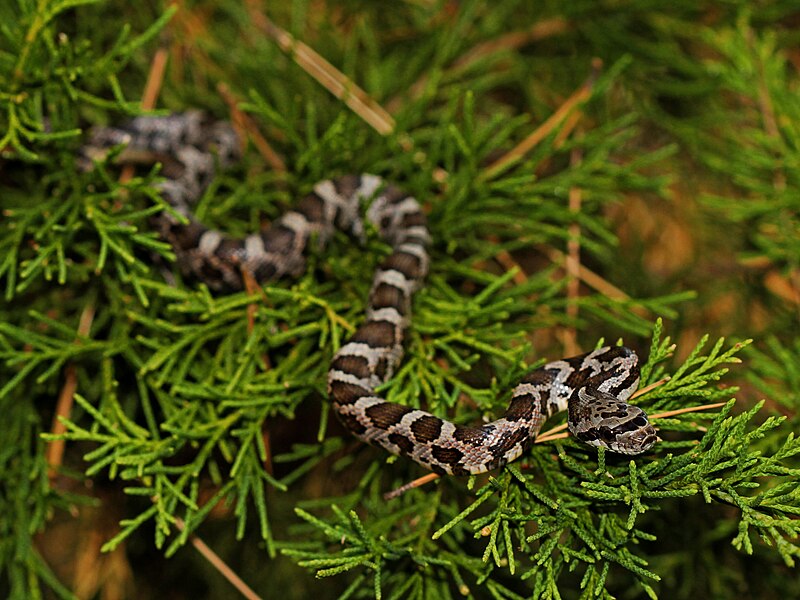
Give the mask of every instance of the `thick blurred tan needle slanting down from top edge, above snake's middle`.
M 331 63 L 307 44 L 297 40 L 287 31 L 273 23 L 261 10 L 255 0 L 247 0 L 250 18 L 261 31 L 280 46 L 297 65 L 316 79 L 331 94 L 339 98 L 350 109 L 381 135 L 394 131 L 392 115 L 358 87 L 355 82 L 339 71 Z

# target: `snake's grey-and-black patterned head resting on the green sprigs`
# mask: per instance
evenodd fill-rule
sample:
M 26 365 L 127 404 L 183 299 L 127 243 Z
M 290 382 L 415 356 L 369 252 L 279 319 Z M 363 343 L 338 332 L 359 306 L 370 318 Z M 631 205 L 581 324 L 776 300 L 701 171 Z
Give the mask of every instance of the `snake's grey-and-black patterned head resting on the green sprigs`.
M 647 452 L 658 440 L 641 408 L 597 389 L 573 394 L 568 425 L 582 442 L 620 454 Z

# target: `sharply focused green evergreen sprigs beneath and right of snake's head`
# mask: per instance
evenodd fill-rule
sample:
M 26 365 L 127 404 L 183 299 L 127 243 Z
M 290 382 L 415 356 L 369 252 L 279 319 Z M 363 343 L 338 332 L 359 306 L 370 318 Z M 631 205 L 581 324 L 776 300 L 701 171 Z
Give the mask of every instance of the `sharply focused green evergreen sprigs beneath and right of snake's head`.
M 718 397 L 717 390 L 704 388 L 725 373 L 722 365 L 737 362 L 734 353 L 742 345 L 722 352 L 720 340 L 705 355 L 703 346 L 701 342 L 669 383 L 648 393 L 641 403 L 651 406 L 676 396 L 706 396 L 702 392 Z M 669 339 L 654 336 L 646 383 L 663 374 L 652 367 L 669 347 Z M 461 503 L 453 499 L 463 490 L 452 479 L 442 481 L 437 492 L 415 490 L 393 503 L 382 502 L 380 485 L 369 485 L 362 499 L 369 523 L 359 520 L 352 509 L 346 513 L 338 508 L 347 499 L 333 500 L 337 502 L 333 521 L 298 509 L 320 541 L 336 544 L 311 550 L 306 541 L 284 545 L 283 552 L 315 569 L 318 577 L 357 570 L 364 589 L 381 587 L 390 598 L 436 597 L 443 578 L 450 578 L 453 590 L 469 589 L 467 580 L 477 585 L 491 582 L 488 590 L 496 597 L 520 597 L 518 586 L 508 586 L 497 577 L 504 571 L 530 580 L 536 598 L 560 597 L 556 582 L 567 572 L 578 573 L 583 594 L 596 597 L 603 595 L 615 566 L 630 571 L 640 592 L 655 597 L 652 584 L 660 577 L 647 568 L 641 546 L 656 538 L 638 522 L 666 501 L 701 496 L 707 503 L 739 509 L 738 534 L 732 540 L 737 549 L 751 554 L 751 536 L 756 533 L 793 566 L 800 550 L 796 545 L 800 524 L 794 516 L 800 469 L 789 466 L 789 461 L 800 453 L 800 444 L 789 434 L 765 455 L 761 442 L 783 419 L 770 417 L 756 426 L 753 420 L 760 405 L 735 416 L 733 406 L 731 400 L 716 415 L 658 419 L 667 439 L 674 437 L 668 432 L 697 431 L 698 418 L 711 423 L 700 439 L 681 436 L 680 441 L 662 441 L 654 460 L 588 451 L 572 440 L 555 445 L 558 459 L 553 460 L 553 448 L 538 445 L 521 465 L 506 467 L 472 492 L 474 500 L 470 498 L 460 512 Z M 362 479 L 362 486 L 374 481 L 374 471 Z M 764 477 L 769 483 L 762 481 Z M 470 538 L 477 541 L 468 544 Z M 465 561 L 459 548 L 473 548 L 473 560 Z M 415 567 L 413 583 L 408 579 L 409 563 Z M 393 576 L 398 571 L 404 575 Z M 366 583 L 370 579 L 373 585 Z

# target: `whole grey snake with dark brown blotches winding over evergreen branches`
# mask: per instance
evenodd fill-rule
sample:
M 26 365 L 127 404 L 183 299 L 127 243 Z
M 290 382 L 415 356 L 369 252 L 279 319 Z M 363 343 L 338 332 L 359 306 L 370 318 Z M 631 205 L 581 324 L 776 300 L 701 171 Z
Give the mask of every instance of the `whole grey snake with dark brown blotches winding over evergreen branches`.
M 363 323 L 335 352 L 327 375 L 333 409 L 358 439 L 448 475 L 484 473 L 519 458 L 544 422 L 563 411 L 572 435 L 591 446 L 636 455 L 656 443 L 647 414 L 627 402 L 640 375 L 636 353 L 624 346 L 531 371 L 514 388 L 505 413 L 479 426 L 381 397 L 378 388 L 403 358 L 412 297 L 430 263 L 422 206 L 396 185 L 370 174 L 327 179 L 269 229 L 234 238 L 205 227 L 192 213 L 215 172 L 241 156 L 243 143 L 232 125 L 188 111 L 97 126 L 81 148 L 81 164 L 93 165 L 115 147 L 119 163 L 161 163 L 163 177 L 155 185 L 169 210 L 153 218 L 154 227 L 171 244 L 180 270 L 215 291 L 241 290 L 245 271 L 259 284 L 302 274 L 312 240 L 322 248 L 336 229 L 364 238 L 366 207 L 366 220 L 391 254 L 374 272 Z

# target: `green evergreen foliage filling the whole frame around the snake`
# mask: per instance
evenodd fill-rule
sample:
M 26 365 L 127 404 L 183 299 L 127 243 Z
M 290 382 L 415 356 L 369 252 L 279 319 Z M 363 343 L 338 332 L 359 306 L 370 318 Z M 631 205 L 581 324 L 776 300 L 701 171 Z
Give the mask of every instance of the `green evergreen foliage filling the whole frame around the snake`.
M 692 235 L 791 283 L 800 262 L 791 3 L 758 14 L 736 2 L 269 7 L 394 107 L 387 136 L 292 62 L 241 3 L 189 4 L 0 5 L 0 593 L 70 597 L 34 544 L 54 515 L 90 501 L 48 477 L 45 448 L 56 440 L 67 442 L 63 475 L 125 499 L 104 550 L 138 543 L 179 554 L 222 509 L 261 563 L 245 579 L 258 580 L 267 563 L 281 565 L 274 578 L 296 580 L 295 563 L 326 578 L 317 586 L 330 586 L 327 595 L 721 597 L 733 588 L 683 577 L 681 565 L 710 556 L 723 581 L 740 577 L 736 589 L 751 592 L 746 561 L 778 578 L 794 565 L 800 338 L 787 324 L 796 306 L 760 277 L 731 279 L 722 288 L 741 287 L 745 305 L 767 307 L 772 320 L 691 322 L 719 288 L 702 276 L 696 296 L 657 273 L 634 280 L 637 253 L 610 218 L 626 198 L 675 208 L 675 174 L 691 169 L 703 178 L 697 218 L 706 219 Z M 504 37 L 541 23 L 551 27 L 541 38 Z M 668 378 L 637 399 L 651 414 L 724 407 L 658 418 L 662 441 L 634 460 L 567 438 L 490 476 L 385 500 L 419 470 L 343 435 L 322 400 L 330 357 L 362 318 L 388 251 L 375 232 L 361 247 L 337 236 L 296 281 L 215 295 L 180 278 L 149 226 L 165 209 L 157 167 L 125 183 L 110 164 L 77 167 L 82 128 L 138 111 L 130 99 L 157 40 L 177 63 L 163 106 L 224 116 L 213 91 L 223 82 L 290 165 L 271 172 L 250 148 L 205 193 L 203 221 L 257 230 L 317 180 L 345 172 L 381 173 L 425 203 L 432 271 L 414 301 L 407 356 L 383 390 L 390 400 L 464 423 L 496 416 L 522 373 L 560 355 L 553 332 L 568 330 L 586 348 L 603 336 L 649 347 L 643 385 Z M 585 84 L 597 56 L 605 66 L 587 87 L 579 128 L 559 123 L 529 152 L 491 166 Z M 576 189 L 579 210 L 569 204 Z M 570 278 L 547 257 L 574 240 L 575 226 L 583 266 L 619 274 L 628 296 L 568 292 Z M 522 268 L 508 268 L 509 257 Z M 754 329 L 765 341 L 728 373 L 749 341 L 708 340 Z M 68 372 L 75 405 L 66 433 L 52 435 Z M 734 405 L 732 375 L 766 394 L 767 409 Z M 660 523 L 676 520 L 696 535 L 669 556 L 679 536 Z M 712 552 L 708 539 L 725 549 Z M 776 593 L 790 596 L 783 576 Z

